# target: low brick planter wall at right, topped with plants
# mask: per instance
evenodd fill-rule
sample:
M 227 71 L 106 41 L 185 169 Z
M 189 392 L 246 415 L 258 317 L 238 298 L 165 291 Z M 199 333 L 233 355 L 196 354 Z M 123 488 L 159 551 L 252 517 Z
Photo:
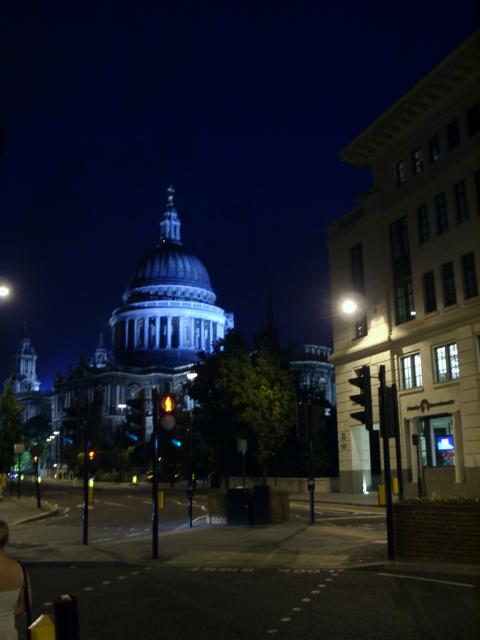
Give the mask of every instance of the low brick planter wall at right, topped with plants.
M 480 564 L 480 504 L 394 504 L 397 560 Z

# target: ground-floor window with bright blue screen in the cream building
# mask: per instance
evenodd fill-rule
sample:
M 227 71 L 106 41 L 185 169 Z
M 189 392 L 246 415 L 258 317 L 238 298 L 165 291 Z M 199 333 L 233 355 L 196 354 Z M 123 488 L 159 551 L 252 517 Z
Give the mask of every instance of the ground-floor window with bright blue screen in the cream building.
M 455 464 L 452 416 L 421 418 L 418 427 L 421 466 L 452 467 Z

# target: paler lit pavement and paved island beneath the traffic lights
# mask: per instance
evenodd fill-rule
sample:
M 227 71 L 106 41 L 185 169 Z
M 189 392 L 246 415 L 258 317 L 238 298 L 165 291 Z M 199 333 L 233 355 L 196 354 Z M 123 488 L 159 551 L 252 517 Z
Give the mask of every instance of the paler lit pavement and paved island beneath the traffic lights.
M 322 493 L 315 497 L 318 510 L 323 504 L 328 505 L 329 510 L 351 511 L 354 506 L 355 511 L 365 515 L 381 515 L 384 512 L 384 507 L 377 504 L 376 494 Z M 309 496 L 293 494 L 291 500 L 308 503 Z M 122 539 L 109 544 L 65 544 L 53 547 L 38 543 L 35 548 L 15 545 L 15 539 L 22 537 L 22 525 L 54 517 L 58 513 L 59 508 L 53 503 L 42 501 L 42 508 L 38 509 L 34 498 L 5 495 L 4 500 L 0 501 L 0 519 L 5 520 L 11 528 L 12 555 L 26 562 L 151 562 L 151 536 L 148 535 L 136 538 L 135 543 L 132 539 Z M 352 548 L 370 544 L 370 548 L 376 548 L 376 556 L 372 557 L 371 562 L 385 564 L 385 546 L 371 544 L 382 541 L 378 533 L 342 527 L 338 529 L 338 535 L 332 536 L 330 531 L 329 535 L 323 535 L 322 530 L 327 533 L 324 527 L 329 523 L 322 523 L 320 517 L 317 523 L 323 526 L 311 527 L 306 520 L 294 519 L 271 526 L 207 526 L 206 518 L 201 517 L 194 523 L 193 529 L 182 525 L 160 533 L 159 561 L 176 567 L 198 567 L 199 570 L 205 567 L 282 566 L 302 571 L 312 567 L 346 566 Z M 390 565 L 402 569 L 423 568 L 437 573 L 480 575 L 478 565 L 436 563 L 432 566 L 424 562 L 394 562 Z

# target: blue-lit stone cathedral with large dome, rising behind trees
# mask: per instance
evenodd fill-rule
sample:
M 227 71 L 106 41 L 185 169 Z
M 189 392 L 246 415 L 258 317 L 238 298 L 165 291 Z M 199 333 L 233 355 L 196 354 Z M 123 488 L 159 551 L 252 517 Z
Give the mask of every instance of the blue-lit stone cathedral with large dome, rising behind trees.
M 122 304 L 110 318 L 111 352 L 101 336 L 90 362 L 81 361 L 57 378 L 53 393 L 48 394 L 52 430 L 61 428 L 64 407 L 73 405 L 77 398 L 83 404 L 96 396 L 103 403 L 103 437 L 110 440 L 124 420 L 119 405 L 141 389 L 150 398 L 153 387 L 183 398 L 186 374 L 198 362 L 199 352 L 211 353 L 215 343 L 233 328 L 233 314 L 215 304 L 205 266 L 182 244 L 174 189 L 167 191 L 158 243 L 139 261 Z M 24 345 L 22 350 L 25 355 Z M 19 352 L 16 357 L 17 371 L 21 356 Z M 24 417 L 37 413 L 33 407 L 28 410 L 30 396 L 18 394 Z M 151 419 L 147 418 L 150 429 Z

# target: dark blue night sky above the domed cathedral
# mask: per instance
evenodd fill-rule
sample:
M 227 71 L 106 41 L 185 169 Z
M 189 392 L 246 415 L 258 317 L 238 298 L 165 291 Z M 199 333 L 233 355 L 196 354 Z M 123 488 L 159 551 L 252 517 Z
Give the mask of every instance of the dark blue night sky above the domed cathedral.
M 331 345 L 338 151 L 479 24 L 474 0 L 23 2 L 0 15 L 0 381 L 88 358 L 176 189 L 184 245 L 251 336 Z

